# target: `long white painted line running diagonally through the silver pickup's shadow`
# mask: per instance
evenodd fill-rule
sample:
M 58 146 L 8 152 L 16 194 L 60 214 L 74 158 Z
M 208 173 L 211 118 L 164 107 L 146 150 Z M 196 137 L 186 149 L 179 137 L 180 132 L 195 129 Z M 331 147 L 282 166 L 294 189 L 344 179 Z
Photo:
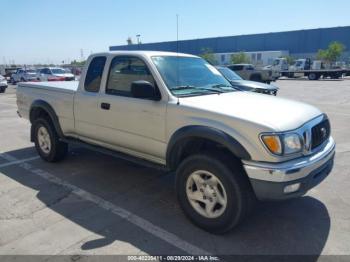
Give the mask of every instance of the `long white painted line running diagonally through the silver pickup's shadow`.
M 57 185 L 60 185 L 62 187 L 65 187 L 65 188 L 71 190 L 73 194 L 78 195 L 82 199 L 95 203 L 98 207 L 101 207 L 105 210 L 112 212 L 113 214 L 121 217 L 122 219 L 125 219 L 126 221 L 132 223 L 133 225 L 143 229 L 144 231 L 152 234 L 153 236 L 158 237 L 159 239 L 167 242 L 168 244 L 185 251 L 188 254 L 211 255 L 208 251 L 205 251 L 205 250 L 179 238 L 175 234 L 170 233 L 170 232 L 164 230 L 163 228 L 152 224 L 148 220 L 146 220 L 140 216 L 137 216 L 137 215 L 133 214 L 132 212 L 130 212 L 122 207 L 119 207 L 119 206 L 117 206 L 109 201 L 106 201 L 99 196 L 91 194 L 91 193 L 89 193 L 89 192 L 87 192 L 87 191 L 85 191 L 85 190 L 83 190 L 75 185 L 69 184 L 68 182 L 50 174 L 47 171 L 44 171 L 44 170 L 39 169 L 39 168 L 35 168 L 33 165 L 29 164 L 28 161 L 27 162 L 24 162 L 23 160 L 21 161 L 13 156 L 7 154 L 7 153 L 2 153 L 2 154 L 0 153 L 0 157 L 6 159 L 8 161 L 11 161 L 12 163 L 15 163 L 17 161 L 18 166 L 31 172 L 32 174 L 40 176 L 41 178 L 46 179 L 49 182 L 55 183 Z

